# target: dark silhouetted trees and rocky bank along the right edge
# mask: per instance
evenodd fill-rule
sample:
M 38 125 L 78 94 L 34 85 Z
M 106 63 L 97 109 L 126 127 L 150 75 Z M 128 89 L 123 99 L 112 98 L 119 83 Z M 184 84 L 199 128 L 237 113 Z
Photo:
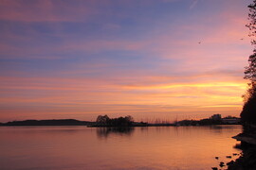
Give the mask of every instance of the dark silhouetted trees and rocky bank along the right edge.
M 247 83 L 247 92 L 243 95 L 244 107 L 240 114 L 243 131 L 233 137 L 241 142 L 236 147 L 242 150 L 242 155 L 235 161 L 227 163 L 228 170 L 256 169 L 256 0 L 253 0 L 247 8 L 249 9 L 248 36 L 251 38 L 253 53 L 248 57 L 248 65 L 244 72 L 244 78 L 249 80 L 249 83 Z

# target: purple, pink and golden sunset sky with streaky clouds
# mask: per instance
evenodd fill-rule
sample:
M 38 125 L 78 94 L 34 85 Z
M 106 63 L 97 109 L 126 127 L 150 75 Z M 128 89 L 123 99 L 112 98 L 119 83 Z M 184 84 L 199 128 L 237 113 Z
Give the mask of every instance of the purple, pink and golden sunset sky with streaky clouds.
M 0 0 L 0 122 L 239 116 L 249 0 Z

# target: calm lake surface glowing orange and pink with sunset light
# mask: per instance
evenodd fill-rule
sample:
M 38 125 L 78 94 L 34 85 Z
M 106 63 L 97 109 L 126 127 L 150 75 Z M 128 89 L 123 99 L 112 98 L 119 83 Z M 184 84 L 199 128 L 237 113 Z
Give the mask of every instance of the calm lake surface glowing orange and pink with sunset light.
M 240 153 L 241 126 L 0 127 L 1 170 L 205 170 Z M 215 160 L 214 157 L 220 157 Z

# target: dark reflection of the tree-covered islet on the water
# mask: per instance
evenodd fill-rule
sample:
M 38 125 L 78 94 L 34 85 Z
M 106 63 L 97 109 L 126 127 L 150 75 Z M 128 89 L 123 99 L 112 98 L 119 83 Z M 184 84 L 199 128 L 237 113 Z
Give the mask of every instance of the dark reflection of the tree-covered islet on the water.
M 131 136 L 134 132 L 134 127 L 97 127 L 97 135 L 100 138 L 107 138 L 111 134 L 117 134 L 119 136 Z

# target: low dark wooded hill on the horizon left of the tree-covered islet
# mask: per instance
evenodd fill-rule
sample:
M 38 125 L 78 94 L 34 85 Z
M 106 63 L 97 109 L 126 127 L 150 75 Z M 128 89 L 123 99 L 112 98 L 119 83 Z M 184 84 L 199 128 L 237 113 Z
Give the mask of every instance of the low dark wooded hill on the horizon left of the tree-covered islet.
M 76 119 L 24 120 L 0 123 L 0 126 L 89 126 L 92 122 Z

